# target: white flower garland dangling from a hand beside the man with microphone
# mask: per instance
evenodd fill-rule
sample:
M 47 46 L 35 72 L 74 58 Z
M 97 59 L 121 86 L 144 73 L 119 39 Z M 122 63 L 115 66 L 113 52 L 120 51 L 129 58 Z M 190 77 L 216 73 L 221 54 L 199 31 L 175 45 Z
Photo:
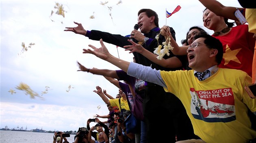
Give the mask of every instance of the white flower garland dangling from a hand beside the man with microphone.
M 154 50 L 154 54 L 158 55 L 156 58 L 159 59 L 159 60 L 162 60 L 163 59 L 163 56 L 166 54 L 167 56 L 170 55 L 169 53 L 169 50 L 173 50 L 174 47 L 171 46 L 171 38 L 170 36 L 167 37 L 167 40 L 165 42 L 163 42 L 163 46 L 162 45 L 159 45 L 159 34 L 156 35 L 156 40 L 157 40 L 157 43 L 158 43 L 158 47 L 155 48 Z M 167 44 L 168 43 L 168 44 Z M 162 49 L 163 47 L 163 49 Z

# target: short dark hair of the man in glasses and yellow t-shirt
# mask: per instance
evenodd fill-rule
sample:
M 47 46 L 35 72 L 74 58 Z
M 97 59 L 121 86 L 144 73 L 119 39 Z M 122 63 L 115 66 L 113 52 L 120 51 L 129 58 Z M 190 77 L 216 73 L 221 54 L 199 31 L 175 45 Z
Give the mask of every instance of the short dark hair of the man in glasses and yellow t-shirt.
M 206 44 L 208 48 L 213 48 L 218 50 L 218 53 L 216 55 L 216 62 L 219 65 L 223 58 L 223 47 L 219 39 L 216 39 L 213 36 L 210 36 L 209 34 L 197 34 L 194 38 L 195 39 L 205 38 L 204 44 Z

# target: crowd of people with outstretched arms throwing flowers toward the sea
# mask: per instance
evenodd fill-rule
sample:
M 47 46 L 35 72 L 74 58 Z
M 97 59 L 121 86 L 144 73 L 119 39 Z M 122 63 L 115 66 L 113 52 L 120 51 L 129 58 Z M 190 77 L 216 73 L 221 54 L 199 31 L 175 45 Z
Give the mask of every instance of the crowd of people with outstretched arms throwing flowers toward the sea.
M 151 9 L 138 12 L 139 31 L 132 30 L 130 37 L 85 30 L 77 22 L 77 27 L 66 27 L 64 31 L 100 41 L 100 48 L 89 45 L 93 50 L 83 49 L 83 53 L 121 69 L 89 69 L 78 62 L 78 71 L 104 76 L 119 93 L 114 98 L 96 86 L 93 92 L 109 113 L 88 119 L 74 143 L 256 143 L 256 100 L 245 90 L 256 83 L 256 6 L 243 3 L 243 8 L 235 8 L 216 0 L 199 1 L 206 7 L 204 27 L 214 33 L 193 26 L 182 46 L 176 42 L 174 28 L 160 28 Z M 130 50 L 133 62 L 114 57 L 103 42 Z M 159 46 L 173 49 L 159 60 L 155 54 Z M 132 116 L 136 128 L 126 124 Z M 163 131 L 156 126 L 159 121 Z M 90 127 L 91 122 L 97 124 Z M 62 135 L 55 135 L 54 141 L 62 143 Z

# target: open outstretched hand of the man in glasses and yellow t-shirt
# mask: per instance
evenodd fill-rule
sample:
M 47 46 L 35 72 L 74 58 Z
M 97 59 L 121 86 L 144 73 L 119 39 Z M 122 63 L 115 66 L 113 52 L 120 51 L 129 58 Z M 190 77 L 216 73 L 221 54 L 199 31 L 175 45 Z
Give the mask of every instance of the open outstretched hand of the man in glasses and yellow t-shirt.
M 103 59 L 103 60 L 107 60 L 109 55 L 111 55 L 109 52 L 108 52 L 108 49 L 106 48 L 106 46 L 104 45 L 102 39 L 100 39 L 100 44 L 101 44 L 101 47 L 100 48 L 96 48 L 95 46 L 89 44 L 88 46 L 91 47 L 93 50 L 91 49 L 82 49 L 84 50 L 82 53 L 89 53 L 89 54 L 93 54 L 95 55 L 96 57 L 99 57 L 100 59 Z

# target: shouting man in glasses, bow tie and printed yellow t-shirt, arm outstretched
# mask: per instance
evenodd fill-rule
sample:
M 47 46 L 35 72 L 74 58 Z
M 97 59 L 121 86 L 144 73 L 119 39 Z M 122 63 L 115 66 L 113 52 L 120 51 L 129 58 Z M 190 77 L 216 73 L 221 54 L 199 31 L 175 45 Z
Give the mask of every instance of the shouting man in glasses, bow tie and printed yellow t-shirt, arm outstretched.
M 141 48 L 132 42 L 126 48 Z M 166 92 L 176 95 L 184 105 L 192 122 L 195 143 L 248 143 L 256 138 L 247 116 L 248 108 L 256 116 L 256 100 L 251 99 L 245 86 L 252 78 L 238 69 L 219 68 L 223 48 L 219 40 L 199 34 L 187 49 L 189 67 L 185 71 L 160 71 L 133 62 L 118 59 L 108 53 L 100 40 L 101 48 L 89 45 L 83 53 L 91 53 L 116 65 L 141 80 L 163 86 Z M 156 95 L 157 96 L 157 95 Z M 182 143 L 191 143 L 191 140 Z

